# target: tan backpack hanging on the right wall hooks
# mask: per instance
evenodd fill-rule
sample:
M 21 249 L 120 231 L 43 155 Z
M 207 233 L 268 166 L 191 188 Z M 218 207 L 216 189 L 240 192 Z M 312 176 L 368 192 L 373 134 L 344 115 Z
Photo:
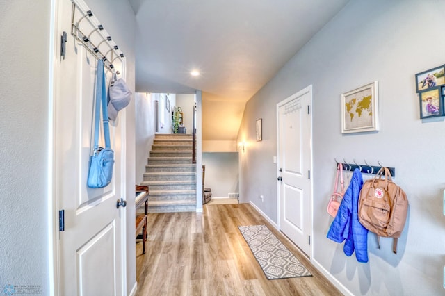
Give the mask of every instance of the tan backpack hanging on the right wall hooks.
M 382 167 L 374 179 L 363 184 L 359 197 L 359 222 L 378 239 L 379 236 L 394 238 L 394 254 L 397 254 L 397 238 L 401 237 L 407 213 L 406 194 L 392 181 L 387 167 Z

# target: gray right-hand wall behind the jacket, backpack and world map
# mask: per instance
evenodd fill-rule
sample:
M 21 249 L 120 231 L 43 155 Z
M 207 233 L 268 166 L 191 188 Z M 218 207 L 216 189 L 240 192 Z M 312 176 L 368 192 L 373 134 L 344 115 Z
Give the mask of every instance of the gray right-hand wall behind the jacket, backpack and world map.
M 277 222 L 276 104 L 313 85 L 314 214 L 312 262 L 354 295 L 443 295 L 445 122 L 419 118 L 414 74 L 442 65 L 444 1 L 352 0 L 277 73 L 245 109 L 238 142 L 241 196 Z M 341 134 L 341 93 L 378 81 L 380 131 Z M 254 122 L 263 118 L 263 141 Z M 394 181 L 410 201 L 407 226 L 391 238 L 369 234 L 369 263 L 326 238 L 334 158 L 396 167 Z M 257 198 L 264 195 L 264 203 Z

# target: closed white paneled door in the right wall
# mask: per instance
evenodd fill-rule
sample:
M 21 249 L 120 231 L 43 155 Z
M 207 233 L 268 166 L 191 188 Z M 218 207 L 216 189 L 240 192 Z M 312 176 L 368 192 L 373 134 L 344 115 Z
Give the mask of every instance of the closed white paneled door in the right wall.
M 280 230 L 311 254 L 312 86 L 277 104 L 277 179 Z

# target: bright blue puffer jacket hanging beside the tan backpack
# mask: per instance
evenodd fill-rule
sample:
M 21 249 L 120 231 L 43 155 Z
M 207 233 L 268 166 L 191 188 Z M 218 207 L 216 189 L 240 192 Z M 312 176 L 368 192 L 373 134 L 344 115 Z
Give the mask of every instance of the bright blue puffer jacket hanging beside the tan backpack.
M 359 195 L 363 186 L 362 174 L 353 172 L 348 189 L 343 196 L 337 216 L 327 232 L 327 238 L 334 242 L 346 240 L 343 251 L 350 256 L 355 251 L 357 261 L 368 262 L 368 229 L 359 222 Z

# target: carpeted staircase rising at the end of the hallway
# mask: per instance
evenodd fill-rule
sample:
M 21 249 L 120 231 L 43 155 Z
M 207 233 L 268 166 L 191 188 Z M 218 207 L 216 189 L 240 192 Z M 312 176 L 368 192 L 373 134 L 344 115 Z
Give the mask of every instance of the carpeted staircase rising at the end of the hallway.
M 149 186 L 148 212 L 196 211 L 196 165 L 192 135 L 156 134 L 142 186 Z

